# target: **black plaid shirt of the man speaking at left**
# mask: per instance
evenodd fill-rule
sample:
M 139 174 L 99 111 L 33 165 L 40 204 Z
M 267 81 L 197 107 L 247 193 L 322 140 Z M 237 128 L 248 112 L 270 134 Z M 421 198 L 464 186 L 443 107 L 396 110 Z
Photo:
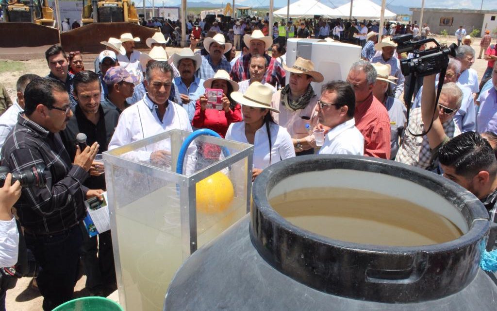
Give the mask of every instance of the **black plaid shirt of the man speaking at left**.
M 23 188 L 14 205 L 21 224 L 34 234 L 50 234 L 69 229 L 86 214 L 82 186 L 88 173 L 71 158 L 58 133 L 54 134 L 19 114 L 17 124 L 1 149 L 2 165 L 12 172 L 45 165 L 43 188 Z

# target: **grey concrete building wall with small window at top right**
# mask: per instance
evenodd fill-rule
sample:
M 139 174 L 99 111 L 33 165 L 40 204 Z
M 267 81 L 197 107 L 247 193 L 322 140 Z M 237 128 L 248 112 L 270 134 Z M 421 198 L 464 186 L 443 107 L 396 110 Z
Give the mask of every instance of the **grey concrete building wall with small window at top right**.
M 420 10 L 413 10 L 413 17 L 411 20 L 417 20 L 419 23 L 420 19 Z M 427 23 L 430 27 L 430 31 L 432 33 L 439 34 L 443 29 L 447 30 L 449 35 L 454 35 L 459 26 L 463 26 L 466 29 L 466 32 L 469 34 L 473 29 L 482 29 L 482 22 L 484 19 L 483 13 L 477 12 L 468 12 L 468 10 L 447 10 L 447 11 L 439 11 L 439 10 L 431 10 L 424 9 L 423 12 L 423 23 Z M 440 26 L 440 18 L 442 17 L 453 17 L 454 21 L 452 26 Z M 490 19 L 490 17 L 489 17 Z M 419 25 L 421 28 L 421 25 Z

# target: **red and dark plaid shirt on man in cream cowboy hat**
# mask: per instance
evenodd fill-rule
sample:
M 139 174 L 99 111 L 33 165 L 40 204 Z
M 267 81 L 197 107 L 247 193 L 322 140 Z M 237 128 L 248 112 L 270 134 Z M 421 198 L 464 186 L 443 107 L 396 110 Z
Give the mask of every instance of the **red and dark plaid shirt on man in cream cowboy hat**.
M 235 82 L 240 82 L 250 79 L 250 73 L 248 72 L 248 63 L 250 62 L 250 54 L 240 57 L 233 69 L 231 70 L 231 78 Z M 269 64 L 267 67 L 266 74 L 264 75 L 264 80 L 276 89 L 285 86 L 285 70 L 281 67 L 281 64 L 271 56 L 264 54 L 264 57 Z

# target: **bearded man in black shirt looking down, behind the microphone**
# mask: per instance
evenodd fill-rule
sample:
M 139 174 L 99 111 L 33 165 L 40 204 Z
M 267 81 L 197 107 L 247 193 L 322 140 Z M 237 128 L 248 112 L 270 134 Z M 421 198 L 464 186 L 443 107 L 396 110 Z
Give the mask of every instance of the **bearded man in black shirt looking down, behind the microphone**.
M 78 105 L 73 108 L 74 117 L 62 132 L 62 141 L 71 158 L 76 154 L 76 135 L 86 134 L 88 145 L 97 142 L 99 152 L 107 151 L 107 145 L 117 125 L 119 113 L 116 109 L 100 105 L 100 79 L 92 71 L 82 71 L 74 78 L 74 95 Z M 105 178 L 99 173 L 93 163 L 90 178 L 84 186 L 91 189 L 105 189 Z M 117 289 L 114 270 L 114 256 L 110 231 L 101 232 L 99 240 L 96 236 L 89 237 L 83 229 L 82 260 L 86 274 L 86 288 L 94 296 L 107 296 Z M 97 257 L 98 253 L 98 257 Z

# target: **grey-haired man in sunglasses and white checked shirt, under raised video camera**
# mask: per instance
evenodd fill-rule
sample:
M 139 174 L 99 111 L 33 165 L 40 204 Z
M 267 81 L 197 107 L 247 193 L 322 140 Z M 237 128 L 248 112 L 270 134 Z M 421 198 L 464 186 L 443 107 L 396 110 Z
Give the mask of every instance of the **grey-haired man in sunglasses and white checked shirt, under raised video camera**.
M 461 133 L 454 120 L 454 115 L 461 107 L 463 92 L 454 82 L 445 83 L 435 108 L 434 104 L 430 104 L 435 98 L 434 88 L 435 75 L 425 77 L 421 94 L 421 107 L 411 111 L 403 143 L 395 161 L 427 170 L 435 170 L 438 168 L 433 156 L 436 154 L 436 150 L 450 138 Z M 414 136 L 424 133 L 432 123 L 431 129 L 426 135 Z M 435 133 L 443 136 L 433 136 Z

